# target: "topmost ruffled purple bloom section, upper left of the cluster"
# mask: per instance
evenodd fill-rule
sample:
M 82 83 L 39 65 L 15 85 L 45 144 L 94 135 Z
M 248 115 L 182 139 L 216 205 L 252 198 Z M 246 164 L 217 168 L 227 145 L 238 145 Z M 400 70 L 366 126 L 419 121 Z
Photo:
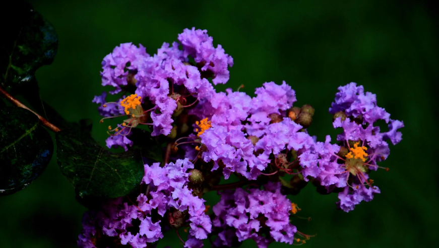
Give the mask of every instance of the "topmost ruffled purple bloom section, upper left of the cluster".
M 136 95 L 149 109 L 139 116 L 144 116 L 145 121 L 151 119 L 149 123 L 139 124 L 151 125 L 153 136 L 170 133 L 174 122 L 172 115 L 179 109 L 190 107 L 201 98 L 211 98 L 215 90 L 206 77 L 212 76 L 214 84 L 225 84 L 229 78 L 228 66 L 233 65 L 233 59 L 224 53 L 221 45 L 213 46 L 213 39 L 206 30 L 185 29 L 178 35 L 178 40 L 183 50 L 179 50 L 177 42 L 172 46 L 163 43 L 153 56 L 147 54 L 142 45 L 137 48 L 132 43 L 120 44 L 102 62 L 102 85 L 116 88 L 111 94 L 128 85 L 136 87 Z M 197 64 L 191 64 L 188 56 Z M 202 72 L 211 75 L 202 75 Z M 187 104 L 187 97 L 193 97 L 194 102 Z M 94 102 L 109 107 L 105 96 L 95 97 Z M 112 116 L 120 113 L 116 106 L 107 111 L 101 106 L 99 112 L 106 117 Z

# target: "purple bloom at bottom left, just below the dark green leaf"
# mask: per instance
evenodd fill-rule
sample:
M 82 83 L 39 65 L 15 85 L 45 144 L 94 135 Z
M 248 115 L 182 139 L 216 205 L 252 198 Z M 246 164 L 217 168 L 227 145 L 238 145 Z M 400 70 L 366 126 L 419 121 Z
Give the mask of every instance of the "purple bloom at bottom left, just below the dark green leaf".
M 186 246 L 201 247 L 201 239 L 207 238 L 212 223 L 205 213 L 205 201 L 194 196 L 187 186 L 190 176 L 188 171 L 193 168 L 194 165 L 187 158 L 167 163 L 164 167 L 160 167 L 160 163 L 153 163 L 152 166 L 145 164 L 142 184 L 148 185 L 149 192 L 141 193 L 136 205 L 129 205 L 120 197 L 109 200 L 98 212 L 86 212 L 78 245 L 95 247 L 96 228 L 99 228 L 99 234 L 119 237 L 121 244 L 130 244 L 135 248 L 146 247 L 147 243 L 163 238 L 160 223 L 164 220 L 165 213 L 180 211 L 187 212 L 187 222 L 190 222 L 191 227 L 191 237 L 186 241 Z M 153 218 L 153 212 L 158 213 L 161 218 Z M 128 229 L 133 226 L 134 219 L 140 221 L 137 233 Z

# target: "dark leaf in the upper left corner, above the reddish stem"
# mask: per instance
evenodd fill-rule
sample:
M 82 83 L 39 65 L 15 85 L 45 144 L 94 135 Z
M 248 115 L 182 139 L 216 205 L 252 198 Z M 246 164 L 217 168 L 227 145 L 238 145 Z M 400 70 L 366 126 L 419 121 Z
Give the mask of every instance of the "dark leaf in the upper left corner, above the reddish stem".
M 21 1 L 2 6 L 3 25 L 0 72 L 3 84 L 14 87 L 30 81 L 35 71 L 55 57 L 58 38 L 53 26 Z

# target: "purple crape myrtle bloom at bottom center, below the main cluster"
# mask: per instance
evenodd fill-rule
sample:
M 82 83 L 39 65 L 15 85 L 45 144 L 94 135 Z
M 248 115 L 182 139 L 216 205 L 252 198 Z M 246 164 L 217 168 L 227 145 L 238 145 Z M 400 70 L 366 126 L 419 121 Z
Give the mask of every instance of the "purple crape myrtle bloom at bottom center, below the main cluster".
M 245 239 L 255 240 L 258 247 L 267 247 L 274 241 L 288 244 L 300 241 L 294 238 L 297 228 L 290 223 L 296 205 L 280 193 L 280 183 L 270 182 L 263 188 L 248 191 L 238 188 L 219 193 L 221 199 L 213 207 L 212 220 L 213 229 L 218 233 L 213 242 L 215 247 L 230 247 L 233 240 Z

